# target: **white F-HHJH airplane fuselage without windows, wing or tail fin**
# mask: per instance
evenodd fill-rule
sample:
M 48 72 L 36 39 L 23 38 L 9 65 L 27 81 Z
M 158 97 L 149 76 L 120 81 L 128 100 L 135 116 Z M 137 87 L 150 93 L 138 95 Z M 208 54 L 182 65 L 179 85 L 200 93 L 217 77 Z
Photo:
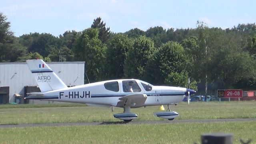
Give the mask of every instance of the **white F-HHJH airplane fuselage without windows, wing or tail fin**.
M 137 92 L 124 92 L 123 81 L 129 80 L 135 81 L 138 84 L 140 90 Z M 107 90 L 105 84 L 111 82 L 117 82 L 118 89 L 116 89 L 115 91 Z M 38 99 L 52 100 L 58 102 L 86 103 L 88 105 L 91 104 L 97 106 L 117 106 L 117 103 L 120 101 L 118 98 L 129 94 L 146 94 L 148 97 L 144 106 L 156 106 L 181 102 L 186 93 L 186 88 L 171 86 L 152 86 L 146 83 L 148 86 L 152 87 L 151 90 L 147 91 L 143 87 L 142 83 L 145 84 L 146 82 L 134 79 L 108 80 L 59 90 L 52 90 L 49 92 L 43 92 L 44 98 Z M 136 106 L 131 106 L 131 108 L 136 108 Z

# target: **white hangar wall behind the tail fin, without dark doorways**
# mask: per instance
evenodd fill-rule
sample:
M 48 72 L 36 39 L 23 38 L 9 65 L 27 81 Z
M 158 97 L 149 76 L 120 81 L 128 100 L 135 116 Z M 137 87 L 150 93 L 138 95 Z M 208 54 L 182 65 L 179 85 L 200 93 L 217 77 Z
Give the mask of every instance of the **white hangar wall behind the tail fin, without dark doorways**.
M 46 62 L 48 66 L 68 85 L 84 84 L 84 62 Z M 0 87 L 9 86 L 9 102 L 14 94 L 24 96 L 24 86 L 37 86 L 26 62 L 0 63 Z

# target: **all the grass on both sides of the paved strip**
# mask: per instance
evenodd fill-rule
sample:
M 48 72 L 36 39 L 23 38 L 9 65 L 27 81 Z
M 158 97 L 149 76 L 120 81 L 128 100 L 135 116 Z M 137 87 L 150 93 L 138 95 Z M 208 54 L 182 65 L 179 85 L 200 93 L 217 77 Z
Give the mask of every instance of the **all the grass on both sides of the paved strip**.
M 166 106 L 165 106 L 166 108 Z M 185 102 L 171 109 L 178 112 L 175 120 L 256 118 L 256 102 Z M 136 108 L 135 120 L 164 120 L 153 112 L 158 106 Z M 0 124 L 49 122 L 103 122 L 122 121 L 113 114 L 122 108 L 98 108 L 83 104 L 0 105 Z M 50 126 L 25 128 L 0 128 L 0 144 L 20 143 L 160 143 L 200 144 L 200 135 L 210 132 L 234 134 L 234 144 L 239 138 L 256 143 L 255 122 L 174 123 L 174 124 L 114 124 L 97 126 Z

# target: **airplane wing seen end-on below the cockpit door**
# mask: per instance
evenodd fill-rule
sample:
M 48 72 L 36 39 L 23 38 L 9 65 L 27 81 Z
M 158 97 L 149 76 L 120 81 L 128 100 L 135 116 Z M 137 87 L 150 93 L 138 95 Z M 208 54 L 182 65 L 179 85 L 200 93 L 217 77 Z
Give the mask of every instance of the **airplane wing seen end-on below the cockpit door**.
M 130 94 L 127 96 L 123 96 L 119 98 L 119 102 L 117 103 L 117 107 L 130 106 L 132 108 L 139 108 L 144 106 L 147 99 L 146 94 Z

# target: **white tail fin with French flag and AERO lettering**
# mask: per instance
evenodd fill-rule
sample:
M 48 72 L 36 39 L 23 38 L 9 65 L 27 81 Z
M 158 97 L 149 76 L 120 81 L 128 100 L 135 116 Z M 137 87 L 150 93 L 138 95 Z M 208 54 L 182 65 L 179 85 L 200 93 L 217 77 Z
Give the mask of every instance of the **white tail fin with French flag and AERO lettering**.
M 43 60 L 26 60 L 26 62 L 41 92 L 67 88 L 66 84 Z

